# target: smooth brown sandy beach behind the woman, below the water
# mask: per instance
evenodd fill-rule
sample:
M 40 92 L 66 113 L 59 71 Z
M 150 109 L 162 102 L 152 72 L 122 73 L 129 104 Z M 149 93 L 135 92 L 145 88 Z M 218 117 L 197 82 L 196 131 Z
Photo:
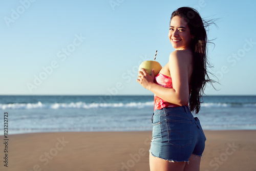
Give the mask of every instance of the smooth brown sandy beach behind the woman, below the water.
M 8 143 L 0 136 L 0 170 L 149 170 L 151 135 L 151 132 L 32 133 L 9 135 Z M 201 170 L 256 170 L 256 131 L 205 131 L 205 135 Z

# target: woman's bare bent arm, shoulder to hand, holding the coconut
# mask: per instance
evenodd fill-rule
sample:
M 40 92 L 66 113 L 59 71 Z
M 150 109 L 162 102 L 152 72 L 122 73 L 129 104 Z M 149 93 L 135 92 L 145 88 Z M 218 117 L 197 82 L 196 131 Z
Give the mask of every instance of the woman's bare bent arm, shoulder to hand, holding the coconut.
M 164 88 L 154 83 L 154 73 L 151 76 L 144 70 L 139 72 L 137 81 L 161 99 L 170 103 L 185 105 L 189 98 L 188 79 L 191 59 L 192 55 L 186 51 L 174 51 L 170 54 L 168 68 L 172 76 L 173 89 Z

